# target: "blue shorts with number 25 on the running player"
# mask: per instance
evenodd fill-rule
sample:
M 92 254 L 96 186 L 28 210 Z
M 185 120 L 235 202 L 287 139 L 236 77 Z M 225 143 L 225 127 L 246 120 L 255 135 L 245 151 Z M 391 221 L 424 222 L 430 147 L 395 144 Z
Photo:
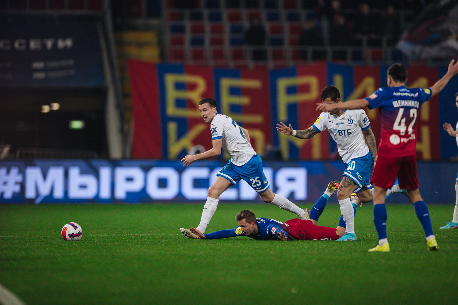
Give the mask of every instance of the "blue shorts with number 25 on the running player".
M 262 171 L 262 159 L 259 154 L 254 155 L 248 162 L 240 166 L 234 165 L 229 160 L 216 176 L 226 178 L 232 185 L 243 179 L 258 193 L 265 192 L 269 188 L 269 182 Z

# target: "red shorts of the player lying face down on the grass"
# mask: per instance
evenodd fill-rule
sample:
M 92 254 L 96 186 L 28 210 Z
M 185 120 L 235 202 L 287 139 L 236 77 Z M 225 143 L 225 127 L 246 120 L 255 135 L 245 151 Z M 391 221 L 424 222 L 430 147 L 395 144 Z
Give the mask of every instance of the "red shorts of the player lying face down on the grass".
M 288 220 L 284 224 L 288 226 L 289 237 L 291 239 L 320 241 L 339 238 L 336 228 L 314 225 L 311 220 L 295 218 Z

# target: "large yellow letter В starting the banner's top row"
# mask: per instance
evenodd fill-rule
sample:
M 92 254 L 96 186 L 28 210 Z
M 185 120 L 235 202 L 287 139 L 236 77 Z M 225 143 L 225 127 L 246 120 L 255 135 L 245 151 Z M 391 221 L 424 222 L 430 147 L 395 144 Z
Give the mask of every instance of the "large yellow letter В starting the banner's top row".
M 198 107 L 202 99 L 202 93 L 207 90 L 206 80 L 201 75 L 167 73 L 164 75 L 165 81 L 165 107 L 166 113 L 170 117 L 178 118 L 200 118 L 197 109 L 176 107 L 176 100 L 191 100 Z M 193 91 L 177 90 L 177 83 L 195 84 Z

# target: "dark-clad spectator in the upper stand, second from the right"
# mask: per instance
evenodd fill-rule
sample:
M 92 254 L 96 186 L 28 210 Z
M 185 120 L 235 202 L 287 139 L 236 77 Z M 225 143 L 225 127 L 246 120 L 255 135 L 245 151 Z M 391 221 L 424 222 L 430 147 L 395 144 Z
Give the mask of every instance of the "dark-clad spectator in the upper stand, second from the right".
M 368 36 L 367 43 L 369 45 L 380 44 L 380 41 L 377 41 L 375 35 L 377 34 L 377 25 L 378 18 L 376 15 L 371 14 L 371 7 L 367 3 L 361 3 L 360 12 L 356 15 L 354 19 L 354 32 L 356 37 L 361 39 L 364 36 Z

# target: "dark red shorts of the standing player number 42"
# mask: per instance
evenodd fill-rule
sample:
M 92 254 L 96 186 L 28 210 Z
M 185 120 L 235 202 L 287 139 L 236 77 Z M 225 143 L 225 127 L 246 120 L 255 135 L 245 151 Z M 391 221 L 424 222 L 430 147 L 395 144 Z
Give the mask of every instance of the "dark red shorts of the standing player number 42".
M 377 156 L 371 183 L 377 187 L 389 188 L 393 186 L 396 177 L 398 177 L 401 188 L 412 191 L 420 186 L 415 155 L 405 157 Z

